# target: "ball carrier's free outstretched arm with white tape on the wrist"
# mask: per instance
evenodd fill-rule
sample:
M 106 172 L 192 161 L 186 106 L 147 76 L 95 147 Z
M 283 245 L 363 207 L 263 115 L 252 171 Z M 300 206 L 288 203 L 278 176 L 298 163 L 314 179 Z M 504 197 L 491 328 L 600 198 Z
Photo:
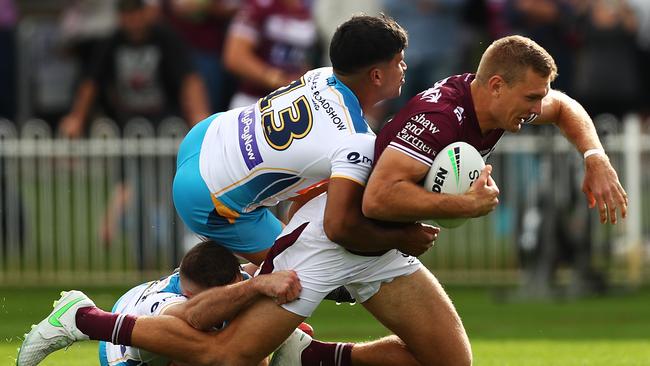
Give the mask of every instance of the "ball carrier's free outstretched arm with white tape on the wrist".
M 596 128 L 587 111 L 568 95 L 551 90 L 542 101 L 542 114 L 538 123 L 554 123 L 566 138 L 585 155 L 585 178 L 582 191 L 589 207 L 598 207 L 600 222 L 617 222 L 617 210 L 627 216 L 627 193 L 618 180 Z

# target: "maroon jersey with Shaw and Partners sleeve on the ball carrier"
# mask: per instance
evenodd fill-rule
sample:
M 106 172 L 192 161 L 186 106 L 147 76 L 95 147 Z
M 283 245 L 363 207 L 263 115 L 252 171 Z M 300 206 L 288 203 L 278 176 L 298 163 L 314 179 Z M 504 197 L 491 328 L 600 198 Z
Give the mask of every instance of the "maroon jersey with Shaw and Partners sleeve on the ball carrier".
M 374 161 L 388 147 L 431 166 L 438 152 L 456 141 L 474 146 L 485 159 L 504 130 L 481 134 L 470 90 L 472 80 L 474 74 L 450 76 L 411 98 L 379 132 Z

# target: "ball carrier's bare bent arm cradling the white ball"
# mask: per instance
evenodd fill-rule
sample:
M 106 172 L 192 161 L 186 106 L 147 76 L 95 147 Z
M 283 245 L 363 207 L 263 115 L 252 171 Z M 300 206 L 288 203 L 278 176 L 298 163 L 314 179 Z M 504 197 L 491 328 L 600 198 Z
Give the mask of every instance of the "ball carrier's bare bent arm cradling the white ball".
M 373 219 L 406 222 L 485 215 L 498 203 L 499 189 L 490 177 L 491 169 L 486 166 L 464 195 L 432 193 L 420 184 L 429 171 L 426 164 L 386 149 L 370 174 L 363 213 Z

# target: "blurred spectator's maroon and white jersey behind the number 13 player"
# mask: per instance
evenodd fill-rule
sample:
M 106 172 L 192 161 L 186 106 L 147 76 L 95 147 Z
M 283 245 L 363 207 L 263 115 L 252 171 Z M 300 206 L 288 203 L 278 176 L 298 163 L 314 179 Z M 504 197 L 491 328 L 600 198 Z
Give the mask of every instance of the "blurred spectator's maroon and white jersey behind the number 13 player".
M 308 56 L 316 45 L 316 23 L 311 1 L 295 5 L 286 0 L 246 0 L 233 20 L 230 32 L 253 41 L 255 54 L 288 74 L 302 75 L 310 69 Z M 264 96 L 269 90 L 243 81 L 240 90 Z

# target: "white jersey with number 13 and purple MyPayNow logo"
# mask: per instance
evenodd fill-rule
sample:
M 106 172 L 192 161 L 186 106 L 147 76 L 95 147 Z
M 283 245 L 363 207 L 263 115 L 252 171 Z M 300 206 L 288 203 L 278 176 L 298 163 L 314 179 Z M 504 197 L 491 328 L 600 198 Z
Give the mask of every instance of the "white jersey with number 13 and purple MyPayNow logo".
M 364 185 L 374 140 L 357 97 L 332 68 L 320 68 L 218 115 L 201 145 L 200 173 L 216 206 L 249 212 L 331 177 Z

